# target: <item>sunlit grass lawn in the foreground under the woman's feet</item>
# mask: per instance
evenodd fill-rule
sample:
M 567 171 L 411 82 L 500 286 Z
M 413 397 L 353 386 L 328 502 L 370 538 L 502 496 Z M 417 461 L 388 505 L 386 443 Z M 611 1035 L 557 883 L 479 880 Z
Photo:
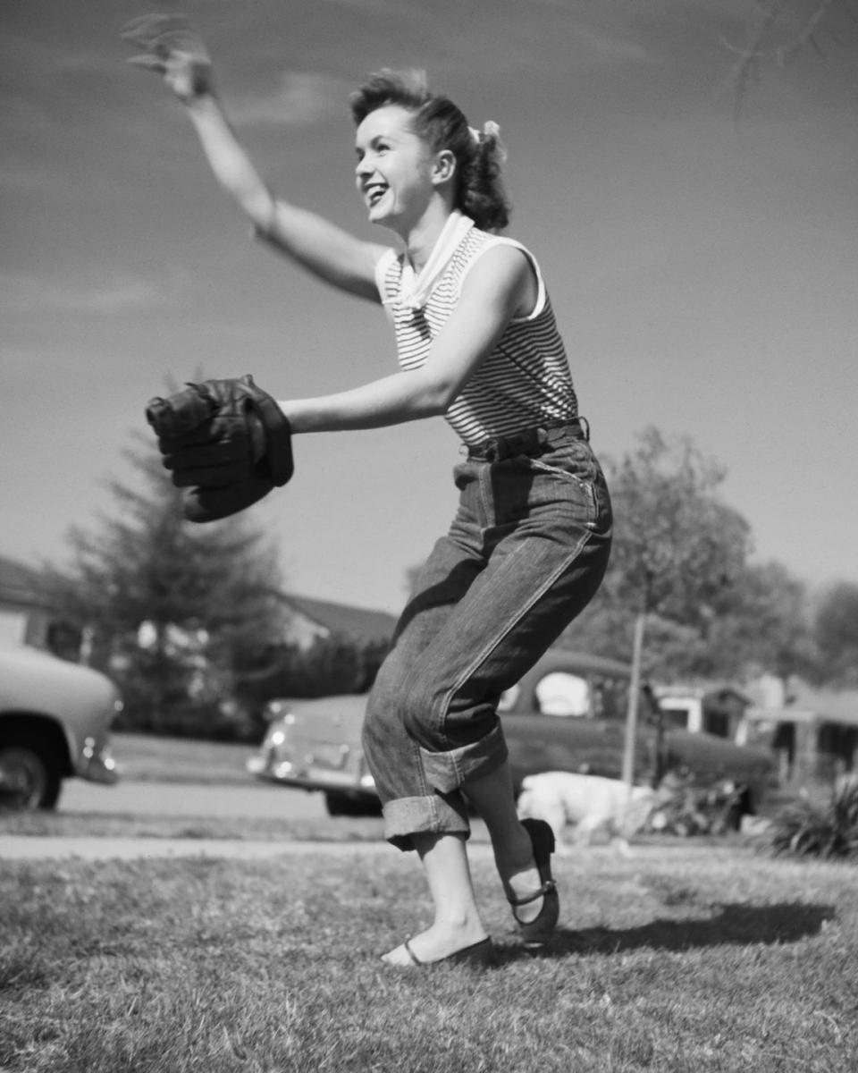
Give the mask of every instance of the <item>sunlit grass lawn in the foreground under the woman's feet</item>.
M 498 966 L 397 971 L 415 859 L 4 862 L 3 1073 L 858 1070 L 858 870 L 692 840 L 560 858 L 524 955 L 490 861 Z

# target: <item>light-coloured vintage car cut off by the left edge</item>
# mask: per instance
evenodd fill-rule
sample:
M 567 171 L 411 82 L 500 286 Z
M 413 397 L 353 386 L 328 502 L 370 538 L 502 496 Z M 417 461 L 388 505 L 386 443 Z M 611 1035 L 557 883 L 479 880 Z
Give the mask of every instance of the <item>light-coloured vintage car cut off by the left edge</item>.
M 72 776 L 116 782 L 108 729 L 121 707 L 103 674 L 0 645 L 0 807 L 55 808 Z

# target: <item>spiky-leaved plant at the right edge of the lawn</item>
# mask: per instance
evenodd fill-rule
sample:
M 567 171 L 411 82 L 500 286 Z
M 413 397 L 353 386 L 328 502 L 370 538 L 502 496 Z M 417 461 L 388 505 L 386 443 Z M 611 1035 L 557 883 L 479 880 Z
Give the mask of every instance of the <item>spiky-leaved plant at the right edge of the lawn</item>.
M 858 861 L 858 774 L 838 779 L 825 805 L 802 797 L 787 806 L 770 833 L 775 854 Z

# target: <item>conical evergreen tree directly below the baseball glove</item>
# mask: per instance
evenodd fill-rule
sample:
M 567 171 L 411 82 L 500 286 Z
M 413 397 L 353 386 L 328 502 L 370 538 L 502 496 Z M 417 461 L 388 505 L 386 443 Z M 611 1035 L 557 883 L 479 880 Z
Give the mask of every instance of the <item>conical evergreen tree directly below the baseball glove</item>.
M 91 661 L 118 680 L 121 725 L 250 736 L 235 692 L 282 636 L 273 554 L 245 517 L 184 521 L 158 453 L 125 456 L 142 480 L 112 481 L 116 513 L 70 532 L 72 564 L 51 570 L 55 592 L 88 631 Z

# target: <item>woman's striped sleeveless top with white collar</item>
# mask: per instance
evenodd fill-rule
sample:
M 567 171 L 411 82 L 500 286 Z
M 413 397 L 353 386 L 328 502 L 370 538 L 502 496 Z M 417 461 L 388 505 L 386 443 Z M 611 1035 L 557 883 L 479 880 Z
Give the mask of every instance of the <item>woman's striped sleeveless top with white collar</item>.
M 568 361 L 536 261 L 519 242 L 472 226 L 420 309 L 401 296 L 404 254 L 387 250 L 376 268 L 379 291 L 394 322 L 399 364 L 403 369 L 416 369 L 426 362 L 432 340 L 456 308 L 469 269 L 482 253 L 500 244 L 515 246 L 528 256 L 538 294 L 530 315 L 507 324 L 494 350 L 445 414 L 468 446 L 527 428 L 562 424 L 578 415 Z

